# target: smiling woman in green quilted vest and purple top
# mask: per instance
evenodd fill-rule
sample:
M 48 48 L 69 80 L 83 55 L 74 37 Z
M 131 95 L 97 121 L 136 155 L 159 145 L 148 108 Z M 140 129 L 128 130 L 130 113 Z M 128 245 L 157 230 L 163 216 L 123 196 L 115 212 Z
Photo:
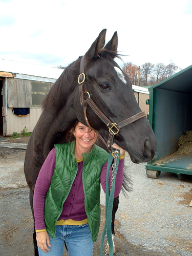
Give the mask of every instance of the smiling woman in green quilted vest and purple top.
M 97 132 L 76 122 L 73 141 L 56 144 L 42 165 L 34 191 L 34 217 L 39 255 L 91 256 L 100 225 L 100 183 L 105 191 L 109 154 L 95 145 Z M 123 182 L 124 150 L 115 195 Z M 111 173 L 110 173 L 111 179 Z M 110 182 L 110 181 L 109 181 Z M 45 254 L 47 253 L 47 254 Z

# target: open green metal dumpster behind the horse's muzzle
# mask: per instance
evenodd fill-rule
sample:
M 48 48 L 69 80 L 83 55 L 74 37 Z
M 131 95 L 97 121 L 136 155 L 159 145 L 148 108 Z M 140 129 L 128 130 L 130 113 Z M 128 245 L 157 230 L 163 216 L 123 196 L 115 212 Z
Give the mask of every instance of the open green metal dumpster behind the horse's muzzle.
M 177 153 L 180 136 L 192 130 L 192 65 L 148 90 L 148 120 L 157 151 L 145 166 L 147 177 L 158 178 L 161 172 L 192 175 L 192 156 Z

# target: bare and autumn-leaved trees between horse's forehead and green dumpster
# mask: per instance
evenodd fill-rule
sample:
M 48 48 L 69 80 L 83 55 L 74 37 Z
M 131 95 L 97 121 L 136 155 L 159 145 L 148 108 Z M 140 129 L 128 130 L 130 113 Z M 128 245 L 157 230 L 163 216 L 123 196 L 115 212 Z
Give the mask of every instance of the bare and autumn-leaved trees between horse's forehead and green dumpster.
M 129 76 L 136 86 L 153 86 L 164 79 L 174 75 L 181 69 L 170 61 L 168 65 L 146 62 L 142 66 L 137 66 L 132 62 L 126 62 L 122 66 L 124 73 Z

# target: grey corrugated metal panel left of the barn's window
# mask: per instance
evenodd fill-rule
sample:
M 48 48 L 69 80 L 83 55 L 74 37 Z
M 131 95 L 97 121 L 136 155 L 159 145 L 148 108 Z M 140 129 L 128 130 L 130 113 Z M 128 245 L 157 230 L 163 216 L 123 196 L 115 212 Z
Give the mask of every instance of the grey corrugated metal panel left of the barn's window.
M 31 81 L 7 78 L 7 98 L 9 108 L 31 108 Z

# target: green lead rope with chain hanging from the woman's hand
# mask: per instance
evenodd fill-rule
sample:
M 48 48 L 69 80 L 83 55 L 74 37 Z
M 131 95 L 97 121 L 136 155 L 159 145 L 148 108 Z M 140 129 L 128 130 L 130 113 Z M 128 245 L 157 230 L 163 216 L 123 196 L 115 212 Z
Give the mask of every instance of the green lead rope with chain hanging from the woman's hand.
M 114 152 L 113 152 L 114 153 Z M 104 237 L 107 237 L 107 241 L 109 244 L 109 256 L 113 256 L 113 239 L 112 239 L 112 231 L 111 231 L 111 222 L 112 222 L 112 210 L 113 210 L 113 201 L 114 201 L 114 194 L 115 194 L 115 178 L 117 175 L 117 169 L 119 165 L 119 155 L 120 151 L 115 151 L 114 153 L 115 159 L 110 153 L 108 159 L 108 166 L 106 169 L 106 181 L 109 181 L 109 174 L 110 174 L 110 167 L 112 162 L 114 161 L 112 168 L 114 170 L 114 179 L 112 180 L 112 186 L 109 188 L 109 182 L 106 182 L 106 191 L 105 191 L 105 225 L 101 237 L 101 246 L 100 246 L 100 256 L 103 255 L 103 243 Z M 110 191 L 111 189 L 111 191 Z M 105 248 L 105 255 L 106 255 L 106 248 Z

